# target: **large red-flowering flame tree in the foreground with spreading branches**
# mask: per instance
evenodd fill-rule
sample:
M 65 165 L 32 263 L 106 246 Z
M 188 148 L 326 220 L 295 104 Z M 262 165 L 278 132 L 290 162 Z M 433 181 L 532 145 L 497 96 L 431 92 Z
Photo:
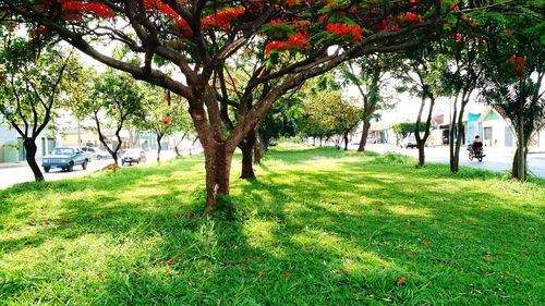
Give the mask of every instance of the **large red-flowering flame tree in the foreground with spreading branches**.
M 234 149 L 280 96 L 348 60 L 419 46 L 434 30 L 440 2 L 0 0 L 0 10 L 38 35 L 58 36 L 99 62 L 185 98 L 204 148 L 208 212 L 228 198 Z M 112 41 L 133 58 L 101 52 L 98 46 Z M 255 65 L 238 100 L 247 109 L 226 132 L 217 84 L 223 64 L 241 54 L 251 54 Z

